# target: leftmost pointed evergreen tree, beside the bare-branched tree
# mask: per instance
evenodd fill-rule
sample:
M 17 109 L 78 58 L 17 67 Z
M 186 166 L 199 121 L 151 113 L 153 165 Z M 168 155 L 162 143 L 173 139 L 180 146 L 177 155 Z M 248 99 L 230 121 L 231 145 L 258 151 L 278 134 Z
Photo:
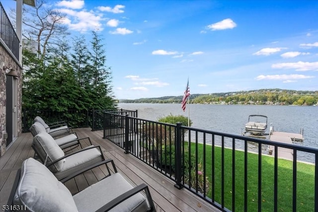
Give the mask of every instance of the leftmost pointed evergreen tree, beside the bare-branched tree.
M 78 86 L 73 67 L 68 58 L 70 47 L 63 40 L 57 48 L 49 48 L 46 69 L 40 79 L 42 98 L 40 103 L 52 111 L 84 109 L 81 88 Z

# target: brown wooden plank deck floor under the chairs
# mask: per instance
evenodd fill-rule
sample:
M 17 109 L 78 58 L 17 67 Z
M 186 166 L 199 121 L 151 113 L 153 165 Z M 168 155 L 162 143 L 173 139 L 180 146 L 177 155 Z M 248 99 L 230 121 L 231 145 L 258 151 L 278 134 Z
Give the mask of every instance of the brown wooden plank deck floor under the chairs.
M 218 212 L 219 210 L 204 200 L 196 197 L 186 189 L 178 190 L 173 181 L 157 172 L 142 161 L 115 144 L 102 139 L 102 131 L 92 132 L 90 128 L 75 129 L 79 138 L 89 137 L 94 145 L 100 145 L 106 158 L 114 160 L 117 171 L 123 174 L 132 184 L 146 183 L 158 212 Z M 17 170 L 22 162 L 33 157 L 31 133 L 21 134 L 0 158 L 0 205 L 5 205 L 10 194 Z M 80 191 L 103 177 L 103 168 L 95 168 L 86 172 L 66 186 L 72 193 Z M 77 187 L 75 186 L 77 185 Z

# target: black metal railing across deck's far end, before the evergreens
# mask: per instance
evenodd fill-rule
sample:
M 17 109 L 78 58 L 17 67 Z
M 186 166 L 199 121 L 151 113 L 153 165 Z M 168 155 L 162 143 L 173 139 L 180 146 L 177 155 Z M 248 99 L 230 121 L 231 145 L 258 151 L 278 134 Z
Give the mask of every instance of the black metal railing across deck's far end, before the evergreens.
M 57 112 L 52 110 L 23 110 L 22 109 L 22 132 L 29 132 L 29 128 L 36 116 L 40 116 L 45 122 L 52 123 L 57 121 L 67 122 L 69 127 L 82 128 L 90 127 L 92 131 L 103 129 L 103 112 L 114 114 L 129 115 L 137 117 L 138 111 L 130 110 L 68 110 Z

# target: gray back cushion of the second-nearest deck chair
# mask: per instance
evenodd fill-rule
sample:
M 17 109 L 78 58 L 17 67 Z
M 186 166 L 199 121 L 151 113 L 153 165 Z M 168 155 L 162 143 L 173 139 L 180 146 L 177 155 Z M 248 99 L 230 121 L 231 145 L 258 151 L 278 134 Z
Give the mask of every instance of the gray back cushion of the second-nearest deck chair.
M 33 138 L 33 146 L 36 148 L 42 162 L 46 161 L 46 164 L 65 155 L 64 151 L 54 141 L 52 136 L 46 132 L 41 132 Z M 65 160 L 60 160 L 54 165 L 49 166 L 49 169 L 53 173 L 56 173 L 63 168 L 64 162 Z

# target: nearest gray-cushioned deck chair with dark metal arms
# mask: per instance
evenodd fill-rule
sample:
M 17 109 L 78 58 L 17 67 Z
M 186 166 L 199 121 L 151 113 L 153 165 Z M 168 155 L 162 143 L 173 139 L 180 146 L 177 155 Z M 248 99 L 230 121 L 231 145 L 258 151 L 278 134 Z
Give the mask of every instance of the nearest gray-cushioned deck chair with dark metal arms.
M 116 173 L 72 196 L 47 167 L 28 158 L 17 171 L 8 205 L 32 212 L 155 212 L 148 186 L 134 187 L 117 172 L 112 160 L 103 161 L 106 166 L 109 162 Z

